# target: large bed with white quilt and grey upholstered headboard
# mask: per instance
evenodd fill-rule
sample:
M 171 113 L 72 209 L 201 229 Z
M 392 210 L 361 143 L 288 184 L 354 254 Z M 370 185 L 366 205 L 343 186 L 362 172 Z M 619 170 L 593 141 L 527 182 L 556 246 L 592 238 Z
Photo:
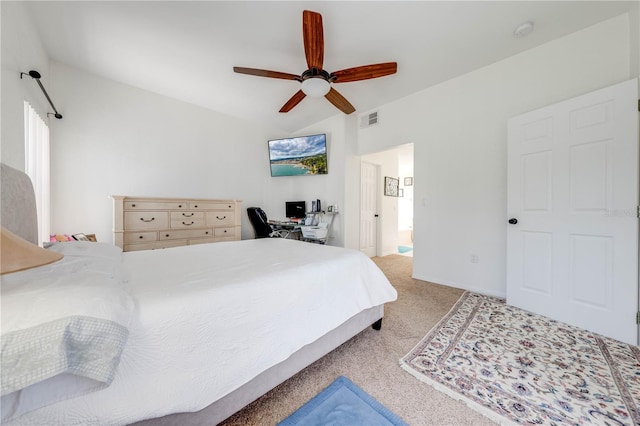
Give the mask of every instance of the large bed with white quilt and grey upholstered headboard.
M 32 197 L 17 189 L 20 180 L 23 173 L 2 166 L 3 231 L 32 238 L 32 225 L 10 223 L 30 214 L 5 221 L 5 209 L 33 208 L 16 197 Z M 292 240 L 49 250 L 64 257 L 2 276 L 3 423 L 216 424 L 379 327 L 384 304 L 397 297 L 362 253 Z M 52 338 L 51 324 L 61 323 L 65 336 Z M 49 340 L 34 346 L 43 324 Z M 49 362 L 54 352 L 69 365 L 43 375 L 20 362 L 34 348 L 36 358 Z

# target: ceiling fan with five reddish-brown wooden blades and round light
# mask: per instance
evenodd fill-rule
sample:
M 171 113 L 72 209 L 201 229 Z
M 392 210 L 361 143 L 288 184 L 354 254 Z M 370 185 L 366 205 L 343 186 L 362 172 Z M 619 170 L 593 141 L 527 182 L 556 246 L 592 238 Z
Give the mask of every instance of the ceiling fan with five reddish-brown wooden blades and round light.
M 336 108 L 345 114 L 351 114 L 356 109 L 336 89 L 332 83 L 347 83 L 350 81 L 368 80 L 395 74 L 398 69 L 396 62 L 384 62 L 381 64 L 362 65 L 329 73 L 323 66 L 324 60 L 324 33 L 322 29 L 322 15 L 317 12 L 305 10 L 302 12 L 302 36 L 304 41 L 304 53 L 309 69 L 301 75 L 288 74 L 278 71 L 267 71 L 255 68 L 233 67 L 240 74 L 257 75 L 259 77 L 280 78 L 284 80 L 296 80 L 302 83 L 302 88 L 296 92 L 283 106 L 280 112 L 289 112 L 298 105 L 306 96 L 324 96 Z

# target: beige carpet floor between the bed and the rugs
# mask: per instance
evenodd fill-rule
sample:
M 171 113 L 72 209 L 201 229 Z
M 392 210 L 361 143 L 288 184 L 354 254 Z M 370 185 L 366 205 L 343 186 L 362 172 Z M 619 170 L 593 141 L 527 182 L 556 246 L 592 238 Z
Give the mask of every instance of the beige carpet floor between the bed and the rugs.
M 398 365 L 449 311 L 462 290 L 412 279 L 410 257 L 389 255 L 374 261 L 398 291 L 398 300 L 385 307 L 382 330 L 369 327 L 222 425 L 275 425 L 341 375 L 413 426 L 494 424 Z

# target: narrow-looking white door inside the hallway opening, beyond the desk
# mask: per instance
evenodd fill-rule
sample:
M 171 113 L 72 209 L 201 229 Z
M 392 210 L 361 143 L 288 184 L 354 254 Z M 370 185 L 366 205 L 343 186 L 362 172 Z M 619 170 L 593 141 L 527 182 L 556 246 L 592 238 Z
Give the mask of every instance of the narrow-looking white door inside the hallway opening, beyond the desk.
M 360 168 L 360 251 L 377 255 L 378 245 L 378 167 L 362 162 Z

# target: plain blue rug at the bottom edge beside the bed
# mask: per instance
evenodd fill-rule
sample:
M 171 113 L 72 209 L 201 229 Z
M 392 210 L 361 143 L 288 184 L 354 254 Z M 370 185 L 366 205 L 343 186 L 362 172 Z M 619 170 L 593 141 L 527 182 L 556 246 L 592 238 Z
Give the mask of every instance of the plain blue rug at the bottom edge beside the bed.
M 408 426 L 400 417 L 344 376 L 278 423 L 278 426 Z

